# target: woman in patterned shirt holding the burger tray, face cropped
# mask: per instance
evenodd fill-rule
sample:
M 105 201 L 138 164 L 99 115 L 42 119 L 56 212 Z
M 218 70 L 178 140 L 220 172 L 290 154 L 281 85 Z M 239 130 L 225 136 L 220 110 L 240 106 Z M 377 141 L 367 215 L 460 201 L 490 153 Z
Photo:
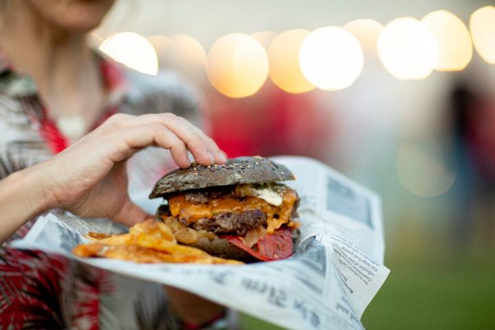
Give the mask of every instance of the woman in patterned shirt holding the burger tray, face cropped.
M 184 89 L 166 89 L 87 46 L 87 32 L 112 4 L 0 2 L 1 242 L 24 236 L 54 208 L 125 225 L 150 217 L 126 193 L 126 159 L 146 146 L 169 149 L 181 167 L 190 165 L 187 150 L 199 164 L 225 162 L 210 138 L 178 116 L 197 122 Z M 164 303 L 155 285 L 5 245 L 0 281 L 1 329 L 199 329 L 223 315 L 177 289 L 166 288 Z

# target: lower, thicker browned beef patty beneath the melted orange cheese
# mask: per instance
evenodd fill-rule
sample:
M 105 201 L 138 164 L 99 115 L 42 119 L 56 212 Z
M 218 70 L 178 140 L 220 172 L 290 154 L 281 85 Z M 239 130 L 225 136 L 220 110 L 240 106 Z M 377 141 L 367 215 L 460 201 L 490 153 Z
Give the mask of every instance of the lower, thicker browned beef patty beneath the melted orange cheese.
M 237 234 L 244 236 L 250 229 L 266 224 L 266 214 L 261 210 L 242 212 L 225 212 L 215 214 L 212 218 L 202 218 L 190 227 L 195 230 L 206 230 L 217 234 Z

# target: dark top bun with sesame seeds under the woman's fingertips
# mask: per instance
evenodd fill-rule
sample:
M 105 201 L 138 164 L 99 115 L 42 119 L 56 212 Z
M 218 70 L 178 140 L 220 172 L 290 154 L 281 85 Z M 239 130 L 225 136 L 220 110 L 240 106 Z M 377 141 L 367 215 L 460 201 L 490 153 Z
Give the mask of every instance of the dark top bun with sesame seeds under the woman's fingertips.
M 228 159 L 225 165 L 203 166 L 193 163 L 189 168 L 178 168 L 157 181 L 149 198 L 190 189 L 293 179 L 296 177 L 287 167 L 270 159 L 260 156 L 237 157 Z

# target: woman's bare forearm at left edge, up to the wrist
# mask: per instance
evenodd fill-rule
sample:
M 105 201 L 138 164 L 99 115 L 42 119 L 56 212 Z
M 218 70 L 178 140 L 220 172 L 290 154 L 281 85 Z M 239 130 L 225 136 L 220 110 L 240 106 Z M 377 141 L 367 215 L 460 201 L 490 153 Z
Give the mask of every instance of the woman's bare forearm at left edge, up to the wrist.
M 20 170 L 0 180 L 0 243 L 48 209 L 41 166 Z

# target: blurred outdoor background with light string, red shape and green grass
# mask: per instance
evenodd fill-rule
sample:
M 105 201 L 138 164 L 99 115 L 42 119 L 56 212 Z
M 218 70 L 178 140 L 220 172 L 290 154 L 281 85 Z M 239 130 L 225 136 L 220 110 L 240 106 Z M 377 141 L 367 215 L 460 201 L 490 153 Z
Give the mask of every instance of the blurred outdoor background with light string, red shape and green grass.
M 391 275 L 366 329 L 494 329 L 490 4 L 121 0 L 91 42 L 194 86 L 231 157 L 307 155 L 382 196 Z

